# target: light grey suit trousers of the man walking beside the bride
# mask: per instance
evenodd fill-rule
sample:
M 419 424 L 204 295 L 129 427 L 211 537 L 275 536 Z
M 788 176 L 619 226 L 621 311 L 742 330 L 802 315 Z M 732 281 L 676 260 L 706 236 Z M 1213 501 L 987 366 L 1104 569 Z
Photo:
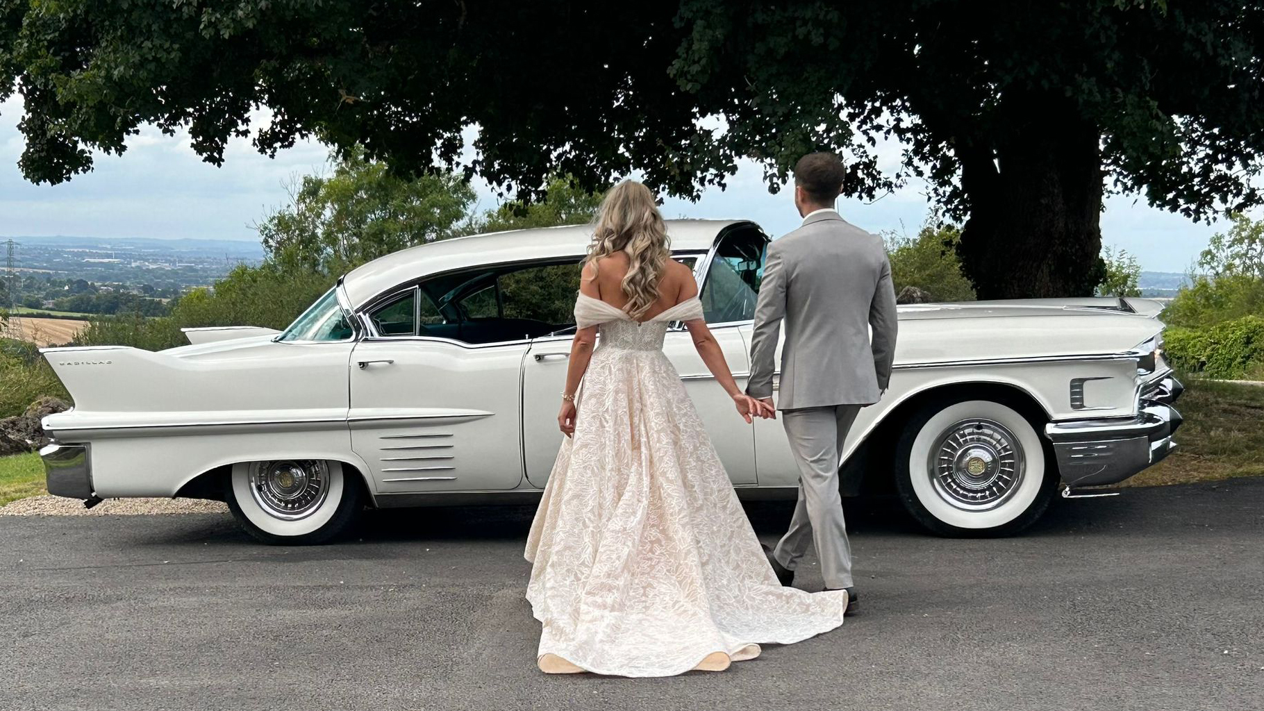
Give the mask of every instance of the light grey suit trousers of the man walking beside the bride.
M 832 405 L 782 410 L 781 422 L 790 437 L 790 450 L 799 465 L 799 504 L 790 530 L 772 552 L 777 562 L 795 570 L 815 543 L 825 587 L 852 586 L 852 546 L 843 523 L 843 499 L 838 493 L 838 461 L 847 431 L 861 405 Z

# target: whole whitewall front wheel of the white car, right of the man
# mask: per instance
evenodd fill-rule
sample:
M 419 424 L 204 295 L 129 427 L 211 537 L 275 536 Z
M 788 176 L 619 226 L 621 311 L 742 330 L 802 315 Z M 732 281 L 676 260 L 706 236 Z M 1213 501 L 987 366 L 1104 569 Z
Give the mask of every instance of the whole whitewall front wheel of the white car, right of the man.
M 1044 513 L 1058 475 L 1030 421 L 1001 403 L 964 400 L 914 415 L 896 448 L 895 482 L 933 533 L 1006 535 Z

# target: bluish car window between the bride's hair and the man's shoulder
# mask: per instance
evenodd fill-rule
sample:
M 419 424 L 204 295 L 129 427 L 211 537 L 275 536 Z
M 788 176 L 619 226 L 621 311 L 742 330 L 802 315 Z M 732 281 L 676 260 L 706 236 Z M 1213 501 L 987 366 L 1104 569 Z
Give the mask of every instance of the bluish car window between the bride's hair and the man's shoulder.
M 719 242 L 699 296 L 708 323 L 755 318 L 767 244 L 767 237 L 753 229 L 729 232 Z

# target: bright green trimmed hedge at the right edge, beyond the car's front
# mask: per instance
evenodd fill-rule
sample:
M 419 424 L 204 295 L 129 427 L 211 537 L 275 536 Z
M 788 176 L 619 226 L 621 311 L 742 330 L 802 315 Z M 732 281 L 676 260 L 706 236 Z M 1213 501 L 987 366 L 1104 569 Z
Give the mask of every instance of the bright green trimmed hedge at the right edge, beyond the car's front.
M 1208 378 L 1246 378 L 1264 370 L 1264 317 L 1244 316 L 1207 328 L 1168 327 L 1168 362 Z

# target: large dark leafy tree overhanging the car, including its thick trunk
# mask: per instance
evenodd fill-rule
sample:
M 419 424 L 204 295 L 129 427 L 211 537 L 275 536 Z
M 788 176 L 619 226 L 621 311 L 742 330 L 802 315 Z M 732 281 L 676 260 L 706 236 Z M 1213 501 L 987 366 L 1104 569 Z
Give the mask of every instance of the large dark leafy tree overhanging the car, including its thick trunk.
M 696 194 L 743 155 L 775 184 L 834 148 L 849 194 L 929 182 L 981 298 L 1091 293 L 1105 191 L 1192 218 L 1261 197 L 1251 0 L 0 3 L 33 181 L 145 122 L 219 163 L 259 107 L 265 153 L 315 135 L 402 173 L 453 164 L 477 125 L 465 168 L 520 193 L 640 169 Z

